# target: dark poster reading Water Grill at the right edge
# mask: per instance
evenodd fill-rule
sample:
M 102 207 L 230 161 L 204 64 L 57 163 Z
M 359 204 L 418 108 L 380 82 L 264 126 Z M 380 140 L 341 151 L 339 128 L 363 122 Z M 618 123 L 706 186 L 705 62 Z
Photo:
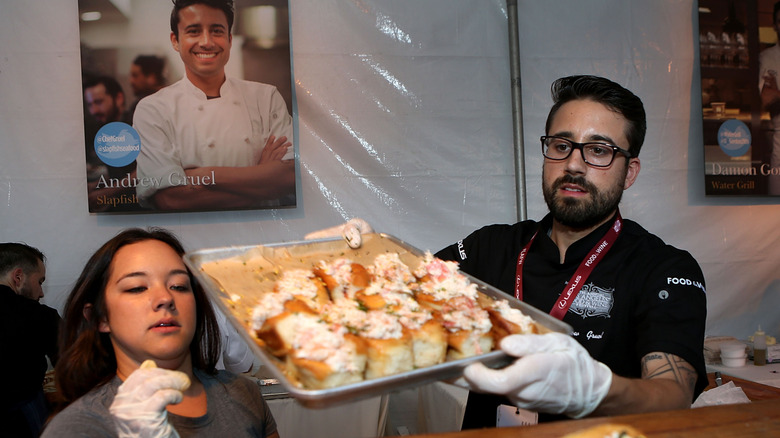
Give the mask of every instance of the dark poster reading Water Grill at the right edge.
M 699 0 L 707 195 L 780 195 L 774 7 L 774 0 Z

